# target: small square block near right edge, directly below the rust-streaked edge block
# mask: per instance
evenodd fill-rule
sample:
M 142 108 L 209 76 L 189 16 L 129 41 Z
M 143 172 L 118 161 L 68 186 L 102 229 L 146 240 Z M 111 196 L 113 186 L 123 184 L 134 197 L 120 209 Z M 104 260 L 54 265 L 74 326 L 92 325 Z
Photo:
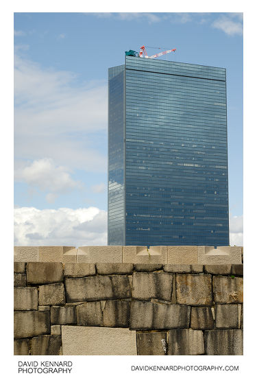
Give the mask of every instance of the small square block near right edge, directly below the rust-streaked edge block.
M 216 328 L 238 329 L 238 305 L 216 305 L 215 322 Z

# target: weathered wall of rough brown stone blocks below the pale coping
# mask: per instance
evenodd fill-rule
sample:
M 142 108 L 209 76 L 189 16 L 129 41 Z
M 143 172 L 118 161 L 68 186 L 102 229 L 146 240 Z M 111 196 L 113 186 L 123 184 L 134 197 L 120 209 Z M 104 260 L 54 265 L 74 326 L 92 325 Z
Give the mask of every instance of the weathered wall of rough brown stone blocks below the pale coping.
M 242 263 L 136 256 L 145 263 L 14 262 L 14 355 L 243 354 Z

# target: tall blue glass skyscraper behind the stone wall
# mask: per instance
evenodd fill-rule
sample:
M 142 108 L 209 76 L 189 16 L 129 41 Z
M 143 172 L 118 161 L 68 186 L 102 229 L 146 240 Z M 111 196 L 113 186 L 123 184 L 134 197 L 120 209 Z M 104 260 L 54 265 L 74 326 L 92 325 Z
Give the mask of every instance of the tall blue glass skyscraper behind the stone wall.
M 228 246 L 224 68 L 109 69 L 108 245 Z

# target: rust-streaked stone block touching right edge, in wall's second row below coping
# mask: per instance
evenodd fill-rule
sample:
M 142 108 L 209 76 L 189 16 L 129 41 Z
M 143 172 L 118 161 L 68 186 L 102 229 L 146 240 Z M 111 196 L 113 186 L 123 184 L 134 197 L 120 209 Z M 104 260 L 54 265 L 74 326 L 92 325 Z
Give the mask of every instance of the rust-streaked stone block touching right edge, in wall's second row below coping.
M 242 277 L 213 277 L 215 303 L 243 303 Z

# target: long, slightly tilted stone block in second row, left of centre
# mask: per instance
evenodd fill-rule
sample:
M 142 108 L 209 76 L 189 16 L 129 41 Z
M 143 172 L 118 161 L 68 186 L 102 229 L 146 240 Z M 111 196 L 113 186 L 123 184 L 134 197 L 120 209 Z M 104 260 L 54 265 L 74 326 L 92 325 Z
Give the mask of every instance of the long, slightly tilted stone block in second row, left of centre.
M 68 303 L 86 300 L 104 300 L 130 298 L 130 281 L 128 276 L 92 276 L 65 279 Z

